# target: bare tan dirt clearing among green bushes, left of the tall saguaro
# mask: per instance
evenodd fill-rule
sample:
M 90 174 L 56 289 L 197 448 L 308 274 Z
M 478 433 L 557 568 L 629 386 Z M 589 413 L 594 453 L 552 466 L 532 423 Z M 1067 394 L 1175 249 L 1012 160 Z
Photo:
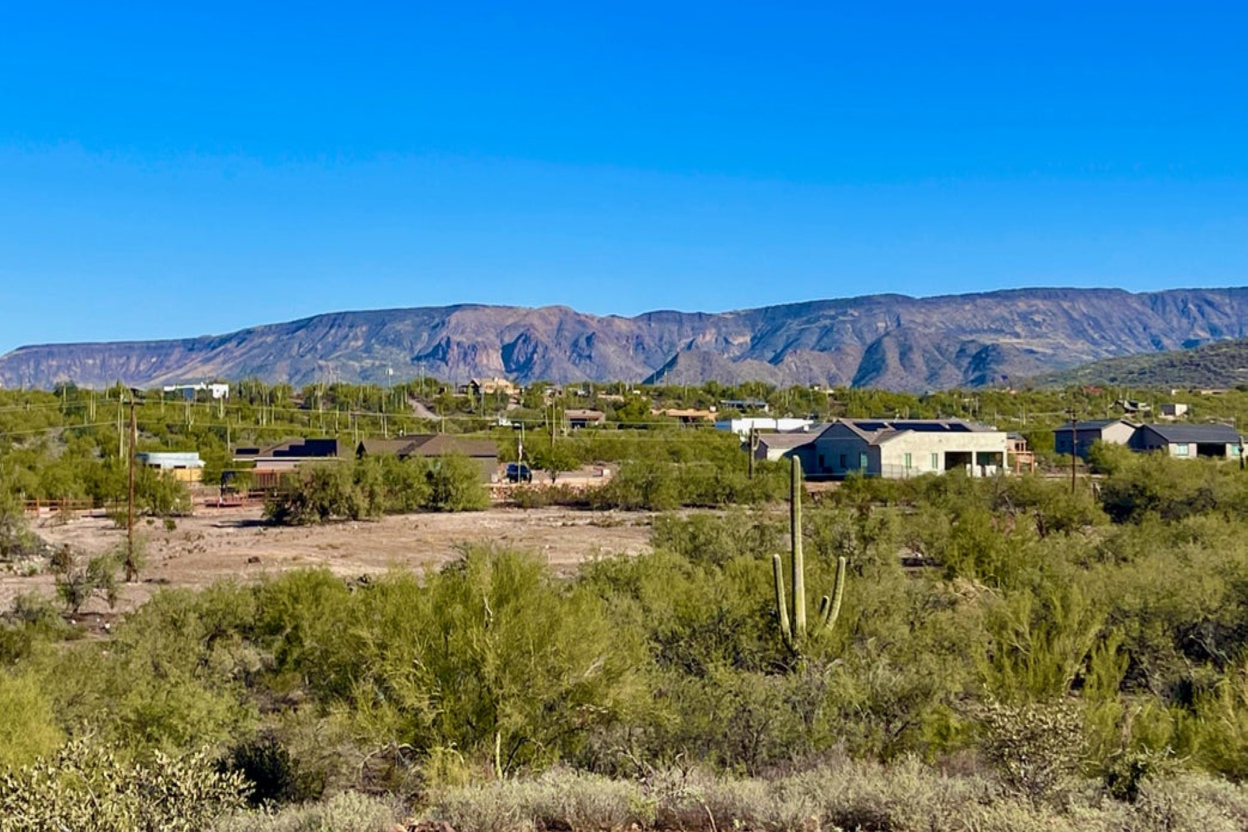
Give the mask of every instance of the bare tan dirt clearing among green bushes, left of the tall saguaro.
M 459 556 L 464 544 L 498 544 L 527 549 L 559 571 L 585 559 L 649 550 L 651 515 L 569 509 L 509 509 L 463 514 L 407 514 L 378 520 L 278 528 L 261 521 L 260 508 L 207 509 L 177 520 L 166 530 L 140 521 L 146 565 L 137 584 L 122 588 L 117 611 L 134 609 L 161 586 L 207 586 L 218 580 L 258 580 L 291 569 L 324 568 L 343 576 L 384 573 L 391 568 L 423 571 Z M 104 518 L 32 520 L 34 530 L 52 545 L 69 544 L 84 554 L 124 545 L 126 533 Z M 12 597 L 37 590 L 51 595 L 46 575 L 0 573 L 0 610 Z M 89 609 L 102 606 L 92 602 Z

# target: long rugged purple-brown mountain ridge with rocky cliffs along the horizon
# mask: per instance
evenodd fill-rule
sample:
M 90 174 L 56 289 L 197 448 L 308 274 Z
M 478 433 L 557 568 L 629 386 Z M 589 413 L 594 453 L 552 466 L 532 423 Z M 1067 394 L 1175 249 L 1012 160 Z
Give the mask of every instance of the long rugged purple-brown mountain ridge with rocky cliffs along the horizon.
M 871 296 L 635 318 L 457 306 L 338 312 L 183 341 L 22 347 L 0 357 L 0 383 L 154 387 L 255 375 L 301 385 L 382 382 L 392 367 L 398 378 L 760 379 L 924 390 L 1246 336 L 1248 288 Z

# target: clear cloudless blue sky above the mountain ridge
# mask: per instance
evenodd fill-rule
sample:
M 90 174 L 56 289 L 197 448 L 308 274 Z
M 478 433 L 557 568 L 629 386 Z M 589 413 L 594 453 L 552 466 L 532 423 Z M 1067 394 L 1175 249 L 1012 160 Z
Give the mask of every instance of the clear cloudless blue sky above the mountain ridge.
M 9 4 L 0 352 L 1246 284 L 1246 42 L 1229 1 Z

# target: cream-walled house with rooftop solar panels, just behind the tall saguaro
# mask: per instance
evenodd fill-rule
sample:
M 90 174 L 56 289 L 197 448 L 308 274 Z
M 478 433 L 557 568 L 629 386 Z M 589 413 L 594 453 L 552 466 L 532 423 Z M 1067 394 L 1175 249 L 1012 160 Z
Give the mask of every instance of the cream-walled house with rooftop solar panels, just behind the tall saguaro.
M 1003 430 L 962 419 L 837 419 L 815 438 L 810 474 L 900 479 L 963 470 L 991 476 L 1007 470 L 1007 447 Z

